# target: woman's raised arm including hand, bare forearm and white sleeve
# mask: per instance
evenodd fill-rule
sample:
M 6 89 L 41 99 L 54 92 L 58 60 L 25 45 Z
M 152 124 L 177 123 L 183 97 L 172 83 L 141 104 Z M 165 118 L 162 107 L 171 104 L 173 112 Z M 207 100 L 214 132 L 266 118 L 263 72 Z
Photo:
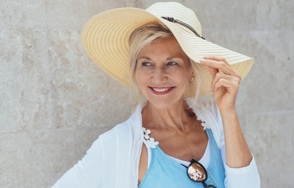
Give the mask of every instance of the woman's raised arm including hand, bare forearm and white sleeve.
M 204 58 L 206 61 L 201 60 L 200 63 L 207 65 L 212 75 L 211 91 L 219 109 L 217 119 L 223 128 L 220 151 L 225 167 L 225 187 L 259 188 L 260 179 L 255 160 L 244 138 L 235 109 L 241 76 L 225 58 Z M 224 74 L 219 73 L 219 70 Z

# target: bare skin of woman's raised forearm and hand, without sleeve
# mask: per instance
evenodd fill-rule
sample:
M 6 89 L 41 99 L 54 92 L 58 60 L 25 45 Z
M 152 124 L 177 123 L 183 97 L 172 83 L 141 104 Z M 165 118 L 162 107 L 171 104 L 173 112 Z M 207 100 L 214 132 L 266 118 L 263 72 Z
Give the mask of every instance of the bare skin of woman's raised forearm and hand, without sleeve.
M 225 135 L 226 163 L 231 168 L 248 166 L 252 156 L 241 130 L 235 101 L 241 80 L 240 74 L 231 67 L 225 58 L 206 56 L 201 64 L 207 65 L 212 75 L 211 91 L 215 99 Z M 223 73 L 220 73 L 221 70 Z

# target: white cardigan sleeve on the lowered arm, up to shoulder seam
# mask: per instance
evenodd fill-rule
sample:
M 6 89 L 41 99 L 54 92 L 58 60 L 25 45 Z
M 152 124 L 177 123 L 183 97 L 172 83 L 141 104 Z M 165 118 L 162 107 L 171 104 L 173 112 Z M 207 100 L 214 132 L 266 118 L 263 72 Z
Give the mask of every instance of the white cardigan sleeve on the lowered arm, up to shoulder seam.
M 103 154 L 98 138 L 87 150 L 87 154 L 69 169 L 51 188 L 99 187 L 103 179 Z

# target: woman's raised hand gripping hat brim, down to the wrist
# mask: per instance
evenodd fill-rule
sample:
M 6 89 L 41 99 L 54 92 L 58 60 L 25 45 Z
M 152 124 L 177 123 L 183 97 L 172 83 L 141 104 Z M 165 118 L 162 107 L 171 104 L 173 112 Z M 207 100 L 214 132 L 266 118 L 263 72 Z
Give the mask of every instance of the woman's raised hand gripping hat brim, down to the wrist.
M 211 91 L 220 111 L 235 111 L 240 74 L 223 57 L 208 55 L 200 60 L 212 76 Z M 221 70 L 223 73 L 220 73 Z

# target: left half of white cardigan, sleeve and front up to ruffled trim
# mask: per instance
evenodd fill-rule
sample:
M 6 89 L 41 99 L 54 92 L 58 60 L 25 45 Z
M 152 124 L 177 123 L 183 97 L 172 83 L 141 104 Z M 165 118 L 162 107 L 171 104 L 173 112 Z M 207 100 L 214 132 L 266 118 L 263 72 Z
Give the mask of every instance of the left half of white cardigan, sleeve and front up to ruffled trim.
M 51 188 L 130 187 L 132 130 L 126 123 L 101 134 L 87 154 Z

